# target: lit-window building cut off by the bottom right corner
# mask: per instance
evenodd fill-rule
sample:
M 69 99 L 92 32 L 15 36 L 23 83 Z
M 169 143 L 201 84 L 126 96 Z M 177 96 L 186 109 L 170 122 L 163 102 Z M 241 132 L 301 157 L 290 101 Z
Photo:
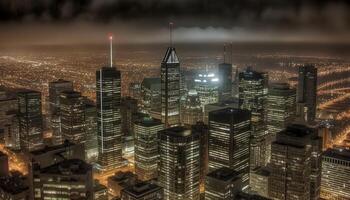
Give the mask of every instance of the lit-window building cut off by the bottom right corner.
M 349 199 L 350 150 L 327 149 L 322 155 L 321 199 Z

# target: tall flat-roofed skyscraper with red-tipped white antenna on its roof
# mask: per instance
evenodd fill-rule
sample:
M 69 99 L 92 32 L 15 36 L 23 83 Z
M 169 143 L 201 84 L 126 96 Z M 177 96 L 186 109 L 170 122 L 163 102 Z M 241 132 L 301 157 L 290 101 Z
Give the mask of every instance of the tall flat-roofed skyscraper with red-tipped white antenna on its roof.
M 98 163 L 102 170 L 122 164 L 120 87 L 120 71 L 113 67 L 111 55 L 110 67 L 96 71 Z

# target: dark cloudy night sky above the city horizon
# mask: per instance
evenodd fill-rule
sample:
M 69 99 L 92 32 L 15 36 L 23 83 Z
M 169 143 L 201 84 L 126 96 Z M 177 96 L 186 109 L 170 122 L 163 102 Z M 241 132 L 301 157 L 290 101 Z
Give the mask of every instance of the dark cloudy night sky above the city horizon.
M 350 42 L 346 0 L 0 0 L 0 43 Z M 157 37 L 155 37 L 157 35 Z

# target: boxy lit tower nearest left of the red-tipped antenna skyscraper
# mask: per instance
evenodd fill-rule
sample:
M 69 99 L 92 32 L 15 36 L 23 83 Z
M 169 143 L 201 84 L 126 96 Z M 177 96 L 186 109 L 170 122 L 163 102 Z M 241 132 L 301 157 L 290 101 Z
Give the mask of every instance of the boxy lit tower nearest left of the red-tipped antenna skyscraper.
M 80 92 L 64 91 L 60 94 L 60 117 L 63 140 L 84 144 L 85 136 L 85 103 Z

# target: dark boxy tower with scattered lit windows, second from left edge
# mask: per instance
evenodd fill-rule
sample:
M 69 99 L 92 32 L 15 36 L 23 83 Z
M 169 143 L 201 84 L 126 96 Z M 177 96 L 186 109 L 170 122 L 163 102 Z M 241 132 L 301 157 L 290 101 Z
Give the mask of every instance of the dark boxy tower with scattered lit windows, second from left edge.
M 17 94 L 20 144 L 23 151 L 33 151 L 43 146 L 43 118 L 41 93 L 24 90 Z

